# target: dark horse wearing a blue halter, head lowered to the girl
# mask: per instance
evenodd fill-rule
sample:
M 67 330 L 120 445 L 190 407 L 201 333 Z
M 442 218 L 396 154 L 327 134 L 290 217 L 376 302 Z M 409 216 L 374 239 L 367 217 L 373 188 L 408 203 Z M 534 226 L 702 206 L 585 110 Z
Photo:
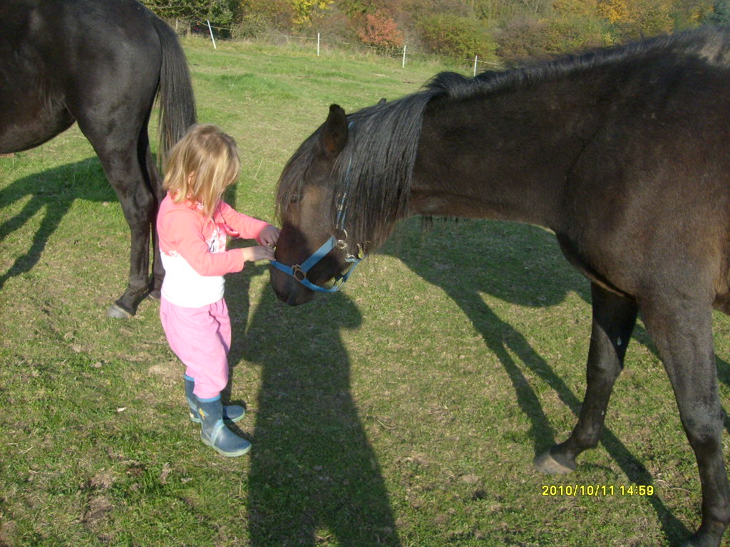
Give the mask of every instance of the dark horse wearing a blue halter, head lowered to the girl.
M 333 105 L 281 176 L 272 286 L 307 302 L 408 215 L 550 228 L 591 281 L 593 330 L 577 425 L 535 465 L 567 473 L 599 442 L 641 311 L 699 465 L 702 524 L 686 545 L 717 547 L 730 521 L 712 344 L 712 307 L 730 311 L 729 90 L 730 35 L 703 29 L 439 74 L 349 116 Z

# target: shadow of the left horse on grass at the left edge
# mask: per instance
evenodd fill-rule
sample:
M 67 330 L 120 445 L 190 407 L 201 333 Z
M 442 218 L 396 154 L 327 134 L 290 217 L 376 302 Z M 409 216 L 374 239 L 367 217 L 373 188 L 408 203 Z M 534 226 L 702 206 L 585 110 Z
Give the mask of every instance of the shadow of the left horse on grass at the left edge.
M 5 215 L 0 217 L 1 242 L 43 211 L 42 220 L 28 250 L 18 256 L 7 271 L 0 274 L 0 290 L 9 279 L 26 274 L 37 265 L 48 240 L 58 229 L 74 201 L 117 201 L 117 195 L 107 182 L 96 156 L 24 176 L 12 182 L 0 190 L 0 211 L 28 196 L 30 198 L 20 212 L 9 218 Z

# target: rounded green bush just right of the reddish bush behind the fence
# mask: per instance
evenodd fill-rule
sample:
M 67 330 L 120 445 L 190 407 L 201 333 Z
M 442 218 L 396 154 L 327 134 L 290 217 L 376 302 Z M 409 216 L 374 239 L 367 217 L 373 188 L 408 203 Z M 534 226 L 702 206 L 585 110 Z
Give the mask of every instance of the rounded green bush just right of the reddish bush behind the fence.
M 495 44 L 483 23 L 457 15 L 431 15 L 420 20 L 423 43 L 434 53 L 454 59 L 479 55 L 485 60 L 495 58 Z

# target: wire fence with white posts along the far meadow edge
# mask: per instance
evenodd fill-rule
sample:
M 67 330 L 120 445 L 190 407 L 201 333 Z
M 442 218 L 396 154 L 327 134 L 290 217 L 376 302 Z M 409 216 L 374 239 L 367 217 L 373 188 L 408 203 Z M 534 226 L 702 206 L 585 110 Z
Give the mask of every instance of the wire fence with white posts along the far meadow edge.
M 236 28 L 215 26 L 212 25 L 210 21 L 204 21 L 202 23 L 191 23 L 188 21 L 175 20 L 174 29 L 177 34 L 180 35 L 197 34 L 199 36 L 207 36 L 207 38 L 210 39 L 210 42 L 214 49 L 218 48 L 218 44 L 216 43 L 216 41 L 244 41 L 244 39 L 237 39 L 235 37 L 237 34 Z M 255 33 L 255 35 L 253 36 L 247 36 L 245 41 L 264 41 L 276 44 L 284 43 L 287 45 L 294 43 L 304 48 L 311 48 L 312 51 L 316 52 L 318 57 L 322 55 L 322 53 L 326 50 L 344 49 L 350 51 L 367 51 L 369 53 L 374 53 L 375 55 L 380 55 L 383 57 L 398 58 L 401 61 L 401 65 L 403 66 L 403 68 L 405 68 L 408 62 L 416 59 L 418 59 L 419 61 L 442 61 L 445 58 L 443 55 L 434 55 L 418 52 L 417 50 L 415 50 L 415 47 L 409 47 L 407 43 L 403 45 L 402 49 L 393 47 L 376 47 L 364 44 L 362 42 L 345 42 L 342 39 L 333 39 L 330 36 L 326 36 L 320 32 L 318 32 L 316 36 L 301 36 L 286 33 L 272 34 L 262 31 Z M 448 59 L 450 62 L 458 63 L 459 65 L 463 65 L 468 67 L 469 69 L 472 69 L 475 75 L 477 74 L 477 72 L 487 69 L 489 67 L 502 66 L 499 63 L 494 63 L 493 61 L 485 61 L 483 59 L 480 59 L 478 55 L 470 58 L 449 57 Z

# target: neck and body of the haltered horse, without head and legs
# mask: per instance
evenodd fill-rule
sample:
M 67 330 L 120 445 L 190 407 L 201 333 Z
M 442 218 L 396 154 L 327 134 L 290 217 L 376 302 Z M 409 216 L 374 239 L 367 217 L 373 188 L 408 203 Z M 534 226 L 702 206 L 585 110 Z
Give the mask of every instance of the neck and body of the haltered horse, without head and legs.
M 730 309 L 728 32 L 431 88 L 413 209 L 542 225 L 604 287 Z

